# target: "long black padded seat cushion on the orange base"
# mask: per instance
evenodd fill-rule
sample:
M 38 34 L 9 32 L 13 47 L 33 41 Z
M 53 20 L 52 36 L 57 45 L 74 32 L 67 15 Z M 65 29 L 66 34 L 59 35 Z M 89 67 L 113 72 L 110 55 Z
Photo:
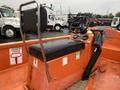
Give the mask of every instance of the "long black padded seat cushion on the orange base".
M 45 49 L 46 60 L 52 60 L 69 53 L 84 49 L 85 44 L 81 41 L 74 41 L 69 39 L 55 40 L 43 43 Z M 29 53 L 42 60 L 42 53 L 40 44 L 35 44 L 29 47 Z

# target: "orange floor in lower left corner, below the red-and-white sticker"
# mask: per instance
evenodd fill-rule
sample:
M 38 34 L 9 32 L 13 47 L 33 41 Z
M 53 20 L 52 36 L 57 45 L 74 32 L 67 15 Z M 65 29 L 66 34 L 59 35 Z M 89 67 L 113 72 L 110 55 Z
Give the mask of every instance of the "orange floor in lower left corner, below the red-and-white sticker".
M 24 90 L 28 64 L 0 71 L 0 90 Z

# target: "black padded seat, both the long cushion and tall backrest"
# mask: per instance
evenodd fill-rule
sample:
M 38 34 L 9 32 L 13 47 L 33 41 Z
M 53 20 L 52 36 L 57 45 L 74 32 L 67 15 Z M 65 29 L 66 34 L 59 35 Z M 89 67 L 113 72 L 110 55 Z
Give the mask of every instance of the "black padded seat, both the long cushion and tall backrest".
M 38 15 L 37 8 L 23 10 L 21 12 L 21 26 L 23 32 L 34 31 L 38 33 Z M 40 7 L 40 32 L 45 30 L 47 27 L 47 11 L 44 7 Z M 46 60 L 50 61 L 55 58 L 70 54 L 72 52 L 79 51 L 85 47 L 85 44 L 81 41 L 74 41 L 70 39 L 48 41 L 43 43 L 45 50 Z M 41 45 L 35 44 L 29 47 L 30 55 L 43 60 L 43 55 L 41 52 Z

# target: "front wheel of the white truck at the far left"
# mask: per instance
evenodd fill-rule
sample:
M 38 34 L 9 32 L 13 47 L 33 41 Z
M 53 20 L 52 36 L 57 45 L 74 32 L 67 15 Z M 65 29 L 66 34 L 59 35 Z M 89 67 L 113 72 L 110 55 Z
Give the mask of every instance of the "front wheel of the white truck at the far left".
M 13 27 L 5 27 L 4 34 L 7 38 L 15 38 L 17 33 Z

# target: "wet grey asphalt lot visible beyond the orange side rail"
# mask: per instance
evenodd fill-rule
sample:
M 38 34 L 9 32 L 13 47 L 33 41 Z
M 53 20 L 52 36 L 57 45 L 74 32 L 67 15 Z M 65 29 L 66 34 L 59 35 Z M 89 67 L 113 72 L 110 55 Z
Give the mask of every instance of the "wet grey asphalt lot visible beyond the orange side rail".
M 97 29 L 105 29 L 106 26 L 97 26 Z M 48 38 L 48 37 L 56 37 L 56 36 L 63 36 L 63 35 L 68 35 L 69 34 L 69 30 L 67 28 L 62 29 L 62 32 L 44 32 L 41 34 L 42 38 Z M 36 39 L 37 35 L 35 34 L 27 34 L 26 35 L 26 39 L 30 40 L 30 39 Z M 17 42 L 17 41 L 21 41 L 21 36 L 17 36 L 16 38 L 5 38 L 4 36 L 0 36 L 0 43 L 8 43 L 8 42 Z

